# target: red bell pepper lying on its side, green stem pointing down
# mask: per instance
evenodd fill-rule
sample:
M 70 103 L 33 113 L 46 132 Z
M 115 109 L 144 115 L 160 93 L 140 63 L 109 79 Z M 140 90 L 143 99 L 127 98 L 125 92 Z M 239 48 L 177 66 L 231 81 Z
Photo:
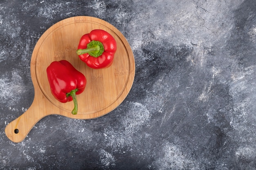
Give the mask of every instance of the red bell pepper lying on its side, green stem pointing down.
M 52 62 L 46 71 L 52 95 L 62 103 L 73 100 L 72 114 L 76 115 L 78 110 L 76 95 L 81 94 L 85 89 L 85 76 L 66 60 Z

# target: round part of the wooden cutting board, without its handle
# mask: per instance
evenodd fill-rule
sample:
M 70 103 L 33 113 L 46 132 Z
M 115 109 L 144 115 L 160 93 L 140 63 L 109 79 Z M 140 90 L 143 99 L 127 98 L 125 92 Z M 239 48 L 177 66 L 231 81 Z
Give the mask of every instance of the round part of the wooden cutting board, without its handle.
M 76 49 L 79 40 L 93 29 L 103 29 L 117 41 L 113 64 L 105 69 L 92 69 L 82 62 Z M 36 81 L 41 91 L 67 117 L 76 118 L 71 111 L 73 102 L 61 103 L 51 94 L 46 68 L 53 61 L 67 60 L 87 79 L 85 91 L 77 95 L 78 115 L 81 119 L 99 117 L 115 109 L 128 95 L 135 75 L 132 50 L 124 36 L 114 26 L 99 18 L 78 16 L 51 26 L 38 40 L 32 58 L 36 58 Z

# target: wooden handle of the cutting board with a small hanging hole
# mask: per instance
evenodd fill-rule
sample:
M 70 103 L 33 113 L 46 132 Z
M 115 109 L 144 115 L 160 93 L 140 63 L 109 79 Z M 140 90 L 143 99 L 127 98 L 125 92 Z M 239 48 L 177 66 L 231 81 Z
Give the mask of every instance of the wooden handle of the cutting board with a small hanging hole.
M 36 104 L 37 103 L 37 104 Z M 33 126 L 43 117 L 50 114 L 38 113 L 40 105 L 34 100 L 28 110 L 20 115 L 17 119 L 13 120 L 5 127 L 5 134 L 7 137 L 16 143 L 19 143 L 25 139 Z M 41 110 L 42 112 L 44 110 Z

